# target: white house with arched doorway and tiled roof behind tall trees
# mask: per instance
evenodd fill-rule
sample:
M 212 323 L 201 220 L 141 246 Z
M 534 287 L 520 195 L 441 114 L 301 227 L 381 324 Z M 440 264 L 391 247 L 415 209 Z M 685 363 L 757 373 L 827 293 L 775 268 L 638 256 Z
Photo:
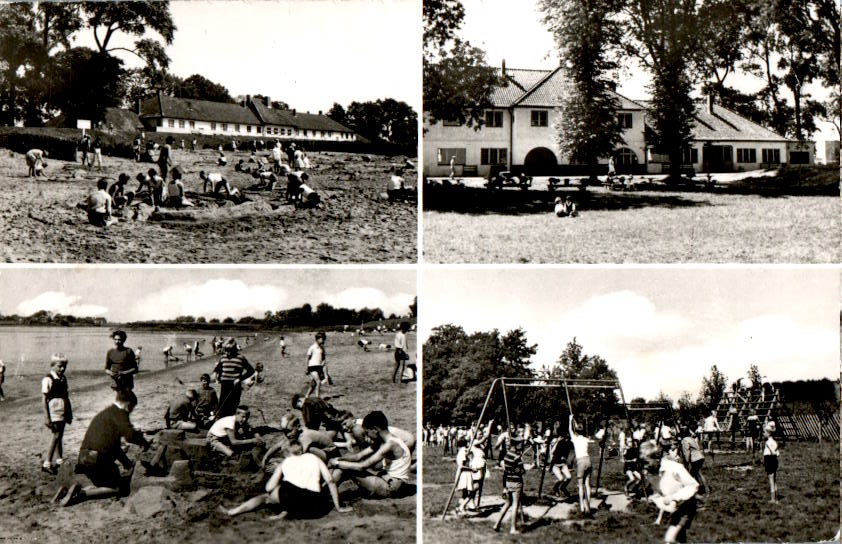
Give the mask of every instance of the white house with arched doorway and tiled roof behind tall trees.
M 494 169 L 525 171 L 532 175 L 579 174 L 582 165 L 570 164 L 558 143 L 559 107 L 565 80 L 554 70 L 507 69 L 504 82 L 491 97 L 479 130 L 459 123 L 424 123 L 424 175 L 488 176 Z M 616 95 L 617 115 L 623 127 L 623 145 L 614 150 L 618 172 L 662 173 L 668 159 L 651 145 L 648 104 Z M 799 144 L 711 99 L 696 106 L 695 126 L 685 164 L 696 172 L 733 172 L 767 168 L 783 163 L 810 164 L 811 143 Z M 648 137 L 647 137 L 648 136 Z M 601 164 L 607 169 L 608 158 Z

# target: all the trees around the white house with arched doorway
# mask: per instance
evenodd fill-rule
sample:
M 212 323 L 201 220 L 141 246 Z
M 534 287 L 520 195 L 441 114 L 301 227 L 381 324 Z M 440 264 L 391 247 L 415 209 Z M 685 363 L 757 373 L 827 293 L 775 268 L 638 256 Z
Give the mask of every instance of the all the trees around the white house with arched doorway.
M 617 119 L 621 67 L 635 59 L 651 76 L 655 150 L 680 177 L 694 126 L 693 92 L 788 138 L 806 141 L 816 122 L 842 138 L 840 12 L 836 0 L 541 0 L 567 89 L 558 143 L 571 162 L 594 166 L 622 142 Z M 424 107 L 432 121 L 480 127 L 491 93 L 505 85 L 485 53 L 458 36 L 459 0 L 424 2 Z M 731 85 L 739 74 L 762 88 Z M 830 91 L 813 98 L 808 86 Z

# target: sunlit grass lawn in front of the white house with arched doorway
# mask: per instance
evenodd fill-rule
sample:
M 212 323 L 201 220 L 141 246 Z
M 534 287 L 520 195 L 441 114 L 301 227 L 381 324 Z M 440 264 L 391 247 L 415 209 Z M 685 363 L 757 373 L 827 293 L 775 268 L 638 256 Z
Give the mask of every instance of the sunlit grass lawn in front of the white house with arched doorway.
M 484 191 L 462 192 L 473 198 Z M 425 209 L 424 259 L 433 263 L 839 260 L 838 196 L 614 193 L 598 188 L 581 197 L 579 217 L 558 218 L 552 213 L 550 193 L 495 194 L 509 205 L 480 211 L 453 211 L 455 206 Z

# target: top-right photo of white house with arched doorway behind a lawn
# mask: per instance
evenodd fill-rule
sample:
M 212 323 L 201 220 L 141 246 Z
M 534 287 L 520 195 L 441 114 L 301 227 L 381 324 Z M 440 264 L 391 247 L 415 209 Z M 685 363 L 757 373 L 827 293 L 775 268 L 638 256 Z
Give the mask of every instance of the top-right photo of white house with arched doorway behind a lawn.
M 838 0 L 424 3 L 432 263 L 836 263 Z

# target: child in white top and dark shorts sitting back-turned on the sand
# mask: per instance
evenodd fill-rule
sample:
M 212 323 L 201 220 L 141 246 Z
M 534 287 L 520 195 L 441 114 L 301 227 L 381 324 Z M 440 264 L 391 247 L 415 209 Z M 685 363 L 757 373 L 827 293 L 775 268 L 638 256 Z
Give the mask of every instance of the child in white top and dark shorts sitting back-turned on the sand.
M 312 453 L 301 453 L 301 445 L 291 443 L 289 455 L 275 468 L 266 482 L 266 493 L 244 502 L 236 508 L 219 510 L 229 516 L 252 512 L 264 505 L 273 505 L 280 513 L 270 519 L 321 517 L 329 511 L 329 504 L 322 495 L 324 483 L 337 512 L 351 512 L 350 507 L 339 504 L 339 492 L 324 461 Z M 326 508 L 328 507 L 328 508 Z

